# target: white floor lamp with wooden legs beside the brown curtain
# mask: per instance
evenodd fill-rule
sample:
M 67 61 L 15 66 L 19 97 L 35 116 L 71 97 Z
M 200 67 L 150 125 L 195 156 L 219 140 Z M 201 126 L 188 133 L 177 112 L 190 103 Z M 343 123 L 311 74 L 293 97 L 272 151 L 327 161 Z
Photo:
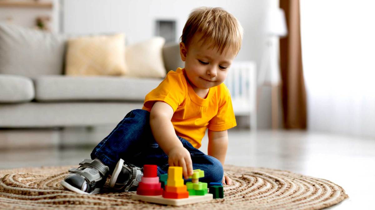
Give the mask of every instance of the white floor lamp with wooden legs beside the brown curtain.
M 280 54 L 279 38 L 288 34 L 285 22 L 284 10 L 278 7 L 269 9 L 266 16 L 266 36 L 267 48 L 264 51 L 260 73 L 258 77 L 258 103 L 260 99 L 261 87 L 271 86 L 271 104 L 272 104 L 272 129 L 279 127 L 279 86 L 280 86 Z

